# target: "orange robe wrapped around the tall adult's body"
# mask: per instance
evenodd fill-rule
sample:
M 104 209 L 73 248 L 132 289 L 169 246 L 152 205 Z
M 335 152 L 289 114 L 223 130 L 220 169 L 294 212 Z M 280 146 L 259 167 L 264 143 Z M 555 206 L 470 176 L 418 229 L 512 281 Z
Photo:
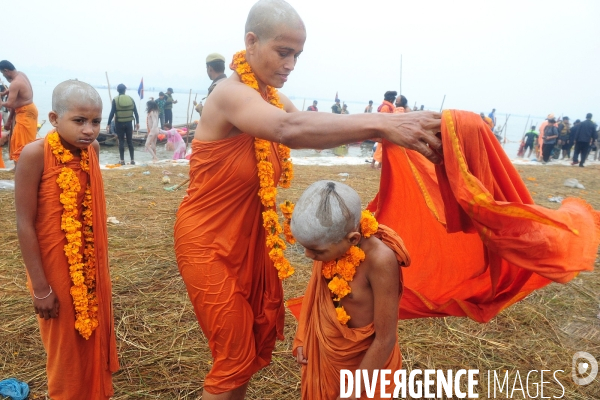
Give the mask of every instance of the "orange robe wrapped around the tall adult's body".
M 276 145 L 270 161 L 279 180 Z M 214 359 L 204 381 L 231 391 L 271 361 L 283 338 L 283 288 L 269 259 L 254 138 L 192 142 L 190 186 L 177 212 L 179 271 Z

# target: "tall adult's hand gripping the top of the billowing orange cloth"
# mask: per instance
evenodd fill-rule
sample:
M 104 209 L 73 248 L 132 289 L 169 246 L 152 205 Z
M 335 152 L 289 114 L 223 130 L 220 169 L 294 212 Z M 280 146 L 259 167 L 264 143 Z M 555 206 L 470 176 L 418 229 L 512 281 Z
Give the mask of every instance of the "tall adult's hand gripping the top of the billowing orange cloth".
M 441 131 L 442 114 L 421 111 L 392 114 L 389 118 L 393 122 L 383 132 L 385 139 L 418 151 L 435 164 L 442 162 L 442 142 L 436 137 Z

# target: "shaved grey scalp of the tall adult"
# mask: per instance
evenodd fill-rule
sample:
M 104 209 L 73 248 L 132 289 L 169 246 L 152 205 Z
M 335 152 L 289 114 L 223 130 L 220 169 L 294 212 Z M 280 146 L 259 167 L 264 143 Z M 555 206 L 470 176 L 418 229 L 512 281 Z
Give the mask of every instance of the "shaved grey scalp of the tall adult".
M 246 33 L 253 32 L 259 40 L 277 37 L 277 28 L 304 30 L 304 22 L 294 8 L 283 0 L 260 0 L 250 9 L 246 20 Z

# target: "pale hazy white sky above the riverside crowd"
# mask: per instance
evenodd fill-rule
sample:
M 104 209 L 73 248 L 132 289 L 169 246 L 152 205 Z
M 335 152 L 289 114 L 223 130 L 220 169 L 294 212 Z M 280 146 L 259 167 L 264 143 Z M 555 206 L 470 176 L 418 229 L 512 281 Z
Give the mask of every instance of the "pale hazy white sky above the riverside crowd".
M 411 106 L 439 109 L 446 95 L 444 108 L 496 108 L 499 121 L 600 117 L 600 1 L 290 3 L 308 38 L 282 91 L 299 106 L 317 99 L 330 111 L 336 92 L 352 113 L 370 99 L 377 105 L 399 90 L 402 55 Z M 146 88 L 205 92 L 206 55 L 242 49 L 253 1 L 31 0 L 26 12 L 12 4 L 3 7 L 0 59 L 26 72 L 34 90 L 50 86 L 38 95 L 69 78 L 106 84 L 107 71 L 137 98 L 142 77 Z M 185 119 L 182 97 L 176 119 Z

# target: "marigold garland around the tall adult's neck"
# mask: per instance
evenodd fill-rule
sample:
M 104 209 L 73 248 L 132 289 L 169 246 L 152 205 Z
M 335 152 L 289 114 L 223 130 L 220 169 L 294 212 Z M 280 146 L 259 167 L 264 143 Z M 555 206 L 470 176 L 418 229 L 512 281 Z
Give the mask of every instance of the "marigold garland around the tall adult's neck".
M 231 63 L 230 68 L 237 72 L 240 76 L 240 80 L 244 84 L 260 92 L 256 76 L 252 72 L 250 64 L 246 61 L 245 50 L 239 51 L 233 56 L 233 62 Z M 261 96 L 263 96 L 269 104 L 272 104 L 279 109 L 283 109 L 283 104 L 279 100 L 277 89 L 274 87 L 267 86 L 266 95 L 261 93 Z M 292 218 L 292 212 L 294 211 L 294 204 L 287 200 L 285 203 L 280 204 L 281 212 L 285 217 L 284 227 L 282 229 L 279 224 L 277 209 L 275 208 L 275 201 L 277 198 L 277 188 L 274 179 L 275 170 L 273 169 L 273 164 L 269 161 L 269 156 L 271 155 L 271 142 L 255 138 L 254 152 L 256 160 L 258 161 L 258 179 L 260 182 L 258 195 L 266 209 L 262 215 L 263 226 L 267 232 L 266 243 L 267 247 L 270 249 L 269 258 L 273 261 L 273 265 L 277 269 L 279 279 L 285 279 L 294 273 L 294 268 L 283 254 L 283 251 L 286 249 L 286 244 L 279 235 L 283 232 L 288 243 L 294 244 L 296 242 L 290 229 L 290 219 Z M 282 188 L 289 188 L 292 183 L 292 178 L 294 177 L 292 161 L 290 160 L 290 148 L 279 143 L 277 146 L 277 153 L 281 160 L 281 177 L 279 178 L 278 184 Z

